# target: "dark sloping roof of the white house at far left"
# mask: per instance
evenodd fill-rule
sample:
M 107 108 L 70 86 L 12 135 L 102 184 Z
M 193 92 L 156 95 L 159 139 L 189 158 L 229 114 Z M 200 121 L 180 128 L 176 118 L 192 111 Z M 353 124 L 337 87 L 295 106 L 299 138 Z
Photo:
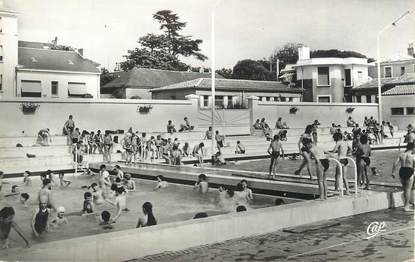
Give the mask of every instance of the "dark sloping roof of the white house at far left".
M 33 43 L 33 42 L 32 42 Z M 99 64 L 74 51 L 19 47 L 19 69 L 100 74 Z

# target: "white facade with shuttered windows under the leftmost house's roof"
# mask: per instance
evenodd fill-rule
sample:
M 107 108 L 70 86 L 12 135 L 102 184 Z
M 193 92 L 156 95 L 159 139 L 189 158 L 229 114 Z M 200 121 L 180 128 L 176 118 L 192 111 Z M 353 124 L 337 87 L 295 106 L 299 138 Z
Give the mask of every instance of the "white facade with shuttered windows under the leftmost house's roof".
M 99 74 L 89 73 L 62 73 L 62 72 L 40 72 L 40 71 L 17 71 L 17 96 L 21 96 L 22 80 L 41 81 L 42 97 L 68 97 L 68 83 L 85 83 L 87 93 L 100 97 Z M 52 96 L 52 81 L 58 81 L 58 95 Z

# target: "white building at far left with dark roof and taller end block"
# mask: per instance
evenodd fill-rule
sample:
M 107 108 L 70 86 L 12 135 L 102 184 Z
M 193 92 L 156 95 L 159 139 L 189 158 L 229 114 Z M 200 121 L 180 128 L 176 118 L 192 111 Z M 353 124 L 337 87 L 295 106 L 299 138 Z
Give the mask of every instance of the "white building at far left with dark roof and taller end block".
M 82 51 L 82 50 L 80 50 Z M 99 64 L 82 52 L 18 40 L 18 16 L 0 1 L 0 98 L 100 97 Z

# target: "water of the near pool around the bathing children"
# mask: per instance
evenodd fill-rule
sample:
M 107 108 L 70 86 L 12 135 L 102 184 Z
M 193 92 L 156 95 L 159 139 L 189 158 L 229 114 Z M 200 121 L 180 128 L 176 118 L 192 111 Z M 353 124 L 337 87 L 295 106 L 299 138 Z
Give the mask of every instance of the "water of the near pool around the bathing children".
M 89 176 L 74 177 L 71 175 L 66 175 L 65 178 L 71 180 L 73 183 L 66 188 L 53 187 L 52 195 L 54 202 L 56 203 L 56 206 L 65 207 L 66 213 L 81 211 L 84 200 L 83 195 L 84 192 L 87 191 L 87 189 L 82 189 L 81 187 L 96 182 L 96 178 Z M 137 190 L 135 192 L 129 192 L 127 195 L 127 208 L 130 211 L 122 212 L 120 218 L 113 224 L 113 229 L 102 229 L 102 227 L 99 226 L 101 219 L 100 214 L 103 210 L 109 211 L 111 216 L 115 215 L 116 212 L 115 206 L 104 202 L 101 205 L 95 205 L 94 211 L 97 215 L 67 216 L 69 224 L 62 226 L 59 229 L 51 229 L 50 232 L 41 235 L 39 238 L 35 238 L 32 234 L 30 223 L 33 213 L 37 208 L 37 192 L 41 183 L 38 177 L 34 177 L 32 180 L 33 185 L 31 187 L 25 187 L 23 185 L 19 187 L 19 192 L 30 194 L 28 207 L 25 207 L 20 203 L 19 195 L 3 197 L 0 199 L 0 209 L 4 206 L 12 206 L 15 209 L 15 222 L 22 228 L 26 237 L 28 237 L 32 243 L 135 228 L 138 217 L 142 215 L 141 207 L 146 201 L 153 204 L 153 213 L 158 224 L 192 219 L 198 212 L 206 212 L 209 216 L 235 212 L 235 206 L 222 205 L 222 202 L 219 201 L 219 192 L 217 189 L 209 189 L 207 194 L 202 195 L 191 186 L 169 184 L 167 188 L 155 191 L 155 181 L 135 179 Z M 6 180 L 5 182 L 8 182 L 8 184 L 3 185 L 3 194 L 10 192 L 11 186 L 14 184 L 21 184 L 21 181 L 22 179 L 20 178 Z M 114 197 L 111 196 L 110 200 L 113 201 Z M 293 202 L 293 200 L 285 199 L 285 202 L 290 203 Z M 254 194 L 254 200 L 247 208 L 256 209 L 269 207 L 273 206 L 274 203 L 275 197 Z M 52 217 L 54 217 L 54 214 L 52 214 Z M 23 240 L 21 240 L 13 230 L 10 234 L 10 240 L 11 247 L 24 246 Z

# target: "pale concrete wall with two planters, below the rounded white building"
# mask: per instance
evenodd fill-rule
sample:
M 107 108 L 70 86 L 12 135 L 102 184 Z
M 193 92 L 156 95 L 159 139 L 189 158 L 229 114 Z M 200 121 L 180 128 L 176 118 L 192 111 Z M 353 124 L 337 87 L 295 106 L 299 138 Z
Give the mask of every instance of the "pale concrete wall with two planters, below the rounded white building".
M 318 119 L 323 126 L 331 126 L 332 123 L 346 126 L 346 121 L 351 116 L 360 125 L 363 124 L 365 116 L 377 117 L 377 104 L 362 103 L 253 103 L 253 121 L 265 117 L 271 127 L 275 126 L 278 117 L 282 117 L 290 127 L 305 127 Z M 296 114 L 290 114 L 291 107 L 297 107 Z M 346 108 L 353 107 L 354 111 L 349 114 Z

